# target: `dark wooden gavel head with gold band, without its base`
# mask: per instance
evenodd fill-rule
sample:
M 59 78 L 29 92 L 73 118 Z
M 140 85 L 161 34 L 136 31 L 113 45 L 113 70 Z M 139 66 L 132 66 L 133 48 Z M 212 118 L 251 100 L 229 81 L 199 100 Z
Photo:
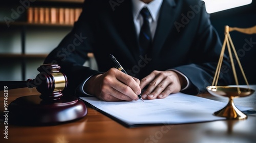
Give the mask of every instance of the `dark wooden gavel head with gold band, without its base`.
M 29 88 L 36 87 L 41 93 L 40 98 L 45 101 L 54 101 L 63 96 L 62 91 L 67 87 L 68 80 L 65 74 L 60 73 L 58 64 L 43 64 L 37 68 L 40 72 L 34 80 L 28 79 Z

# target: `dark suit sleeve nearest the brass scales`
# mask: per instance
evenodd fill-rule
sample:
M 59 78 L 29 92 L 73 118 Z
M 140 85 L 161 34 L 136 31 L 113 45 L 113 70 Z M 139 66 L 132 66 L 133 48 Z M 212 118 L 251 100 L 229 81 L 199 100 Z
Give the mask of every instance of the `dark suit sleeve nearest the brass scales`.
M 201 21 L 199 21 L 199 25 L 197 26 L 197 35 L 192 44 L 193 50 L 190 51 L 189 58 L 191 59 L 191 63 L 174 68 L 188 77 L 192 83 L 194 93 L 204 92 L 206 91 L 206 86 L 212 84 L 222 47 L 219 36 L 214 27 L 212 27 L 209 14 L 206 13 L 205 8 L 202 8 L 199 14 L 201 14 Z M 232 81 L 231 75 L 231 67 L 225 56 L 218 84 L 230 84 Z M 187 91 L 191 93 L 191 88 Z

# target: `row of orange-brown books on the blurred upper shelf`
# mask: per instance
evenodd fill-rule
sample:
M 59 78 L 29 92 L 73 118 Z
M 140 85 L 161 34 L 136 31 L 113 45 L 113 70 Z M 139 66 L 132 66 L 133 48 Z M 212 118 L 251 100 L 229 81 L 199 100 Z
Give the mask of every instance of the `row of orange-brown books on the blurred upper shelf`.
M 29 23 L 73 25 L 81 14 L 81 8 L 28 8 Z

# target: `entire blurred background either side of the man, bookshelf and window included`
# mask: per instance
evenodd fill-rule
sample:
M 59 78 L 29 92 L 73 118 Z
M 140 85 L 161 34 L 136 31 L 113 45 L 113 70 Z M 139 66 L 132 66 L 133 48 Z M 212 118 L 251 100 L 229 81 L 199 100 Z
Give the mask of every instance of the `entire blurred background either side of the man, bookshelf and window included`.
M 72 29 L 84 0 L 9 0 L 0 5 L 0 80 L 34 79 L 46 56 Z M 165 1 L 165 0 L 164 0 Z M 212 25 L 256 26 L 256 0 L 205 0 Z M 223 6 L 223 7 L 222 7 Z M 37 14 L 35 14 L 37 13 Z M 49 13 L 54 13 L 47 17 Z M 42 18 L 44 17 L 44 18 Z M 256 84 L 256 34 L 230 32 L 249 84 Z M 246 48 L 244 45 L 247 43 Z M 85 63 L 97 69 L 92 57 Z M 245 84 L 238 64 L 239 83 Z

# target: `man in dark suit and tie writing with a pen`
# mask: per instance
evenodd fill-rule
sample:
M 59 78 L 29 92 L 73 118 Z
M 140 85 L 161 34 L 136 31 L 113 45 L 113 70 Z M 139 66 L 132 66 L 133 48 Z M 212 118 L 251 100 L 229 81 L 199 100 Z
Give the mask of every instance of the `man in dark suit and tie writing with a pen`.
M 82 66 L 88 52 L 94 53 L 98 71 Z M 66 93 L 131 101 L 140 93 L 156 99 L 205 91 L 220 52 L 202 1 L 86 0 L 73 30 L 45 63 L 61 66 L 69 81 Z M 113 68 L 110 54 L 131 76 Z M 222 67 L 219 84 L 227 85 L 231 70 L 225 58 Z

